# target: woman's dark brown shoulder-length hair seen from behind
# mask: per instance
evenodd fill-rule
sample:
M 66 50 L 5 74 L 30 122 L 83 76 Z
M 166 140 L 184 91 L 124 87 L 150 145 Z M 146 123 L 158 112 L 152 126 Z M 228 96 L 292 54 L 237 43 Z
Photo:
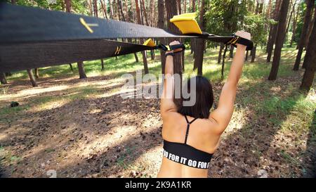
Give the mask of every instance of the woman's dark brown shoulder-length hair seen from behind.
M 202 76 L 192 77 L 187 80 L 187 83 L 184 85 L 187 87 L 187 92 L 191 94 L 191 81 L 196 82 L 196 102 L 192 106 L 184 106 L 183 101 L 190 101 L 189 98 L 183 98 L 181 96 L 180 105 L 178 106 L 178 113 L 182 115 L 189 115 L 190 117 L 209 118 L 209 110 L 213 105 L 214 96 L 213 88 L 209 79 L 206 79 Z

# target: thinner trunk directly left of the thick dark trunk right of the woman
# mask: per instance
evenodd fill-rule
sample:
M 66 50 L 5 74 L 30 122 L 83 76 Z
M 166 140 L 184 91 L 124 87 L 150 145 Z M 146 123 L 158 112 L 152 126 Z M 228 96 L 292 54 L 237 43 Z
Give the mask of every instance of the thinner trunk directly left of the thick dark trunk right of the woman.
M 268 39 L 268 44 L 267 44 L 267 62 L 269 63 L 271 61 L 271 56 L 272 56 L 272 51 L 273 51 L 273 46 L 275 45 L 275 39 L 277 36 L 277 29 L 278 29 L 278 24 L 279 24 L 279 6 L 281 4 L 282 0 L 277 0 L 275 2 L 275 11 L 273 13 L 273 19 L 275 20 L 276 23 L 272 23 L 270 25 L 270 37 Z

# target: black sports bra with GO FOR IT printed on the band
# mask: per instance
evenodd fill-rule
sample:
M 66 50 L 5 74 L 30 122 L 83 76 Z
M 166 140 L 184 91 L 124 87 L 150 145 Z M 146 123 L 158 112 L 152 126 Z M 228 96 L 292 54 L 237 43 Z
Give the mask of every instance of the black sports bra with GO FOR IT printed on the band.
M 187 120 L 187 132 L 185 134 L 185 143 L 176 143 L 164 140 L 164 157 L 189 167 L 198 169 L 208 169 L 213 154 L 206 153 L 197 148 L 187 145 L 187 135 L 189 134 L 190 124 L 197 120 L 195 118 L 191 122 Z

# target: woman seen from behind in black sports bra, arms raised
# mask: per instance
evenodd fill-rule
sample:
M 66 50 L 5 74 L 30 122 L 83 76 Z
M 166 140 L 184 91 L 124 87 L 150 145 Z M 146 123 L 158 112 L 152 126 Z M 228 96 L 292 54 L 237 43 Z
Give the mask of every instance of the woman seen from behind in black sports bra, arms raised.
M 236 32 L 244 39 L 251 39 L 248 32 Z M 171 45 L 180 44 L 173 41 Z M 195 82 L 195 105 L 177 107 L 173 103 L 173 53 L 166 53 L 164 91 L 160 104 L 164 139 L 162 166 L 157 177 L 207 177 L 209 163 L 218 148 L 220 136 L 225 131 L 234 111 L 235 96 L 246 46 L 236 44 L 237 51 L 232 60 L 230 73 L 220 93 L 218 108 L 210 113 L 213 105 L 213 89 L 209 79 L 197 76 L 187 81 L 187 90 L 191 90 L 191 82 Z M 172 90 L 171 95 L 169 91 Z M 191 91 L 191 96 L 192 96 Z M 189 101 L 190 98 L 181 98 Z

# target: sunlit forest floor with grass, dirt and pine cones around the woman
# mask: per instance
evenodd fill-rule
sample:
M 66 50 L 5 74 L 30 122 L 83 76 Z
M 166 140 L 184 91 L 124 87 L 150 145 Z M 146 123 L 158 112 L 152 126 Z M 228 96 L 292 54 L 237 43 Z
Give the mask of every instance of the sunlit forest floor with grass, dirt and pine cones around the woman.
M 204 58 L 216 100 L 223 82 L 218 50 Z M 141 60 L 141 55 L 138 54 Z M 258 50 L 246 62 L 235 113 L 211 160 L 209 177 L 315 177 L 316 93 L 299 91 L 303 70 L 291 70 L 296 50 L 284 48 L 276 81 Z M 150 72 L 161 71 L 159 56 Z M 186 53 L 185 74 L 192 72 Z M 231 60 L 225 65 L 228 74 Z M 156 177 L 162 160 L 157 98 L 121 98 L 121 75 L 141 70 L 133 55 L 85 63 L 88 79 L 69 65 L 41 68 L 39 87 L 26 72 L 0 87 L 0 177 Z M 143 83 L 143 87 L 147 86 Z M 314 83 L 315 85 L 315 83 Z M 132 91 L 133 90 L 129 90 Z M 20 105 L 10 107 L 11 101 Z M 55 175 L 54 175 L 55 172 Z

